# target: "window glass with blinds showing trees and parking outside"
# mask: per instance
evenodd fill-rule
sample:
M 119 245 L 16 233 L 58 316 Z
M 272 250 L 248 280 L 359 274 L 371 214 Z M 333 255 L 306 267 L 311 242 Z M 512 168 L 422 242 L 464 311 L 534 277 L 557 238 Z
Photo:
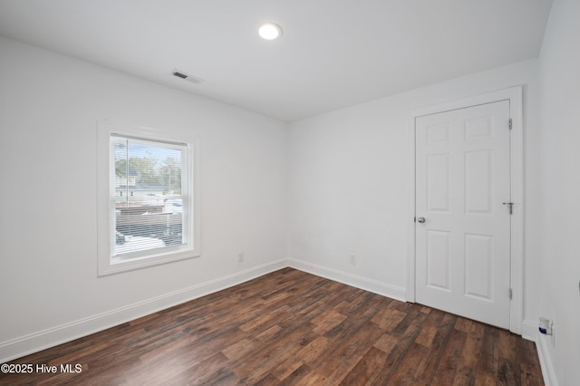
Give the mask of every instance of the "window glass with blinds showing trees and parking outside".
M 186 147 L 111 137 L 115 234 L 112 256 L 186 244 Z M 112 204 L 113 200 L 111 200 Z

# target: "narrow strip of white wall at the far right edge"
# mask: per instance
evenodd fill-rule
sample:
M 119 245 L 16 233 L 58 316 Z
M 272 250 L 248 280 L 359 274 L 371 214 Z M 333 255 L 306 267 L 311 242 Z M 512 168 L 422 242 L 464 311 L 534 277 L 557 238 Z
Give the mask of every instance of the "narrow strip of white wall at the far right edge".
M 541 293 L 554 321 L 540 350 L 558 384 L 580 380 L 580 2 L 556 0 L 539 59 L 541 87 Z

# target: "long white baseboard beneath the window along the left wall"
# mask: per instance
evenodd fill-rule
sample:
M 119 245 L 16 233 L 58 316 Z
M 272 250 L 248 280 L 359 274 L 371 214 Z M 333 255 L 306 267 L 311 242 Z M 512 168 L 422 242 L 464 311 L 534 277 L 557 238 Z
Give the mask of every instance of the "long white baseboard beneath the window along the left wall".
M 70 342 L 82 336 L 97 333 L 121 323 L 130 322 L 141 316 L 153 314 L 174 305 L 189 302 L 189 300 L 221 291 L 233 285 L 239 285 L 258 276 L 282 269 L 285 266 L 287 266 L 285 260 L 259 265 L 233 275 L 220 277 L 199 285 L 192 285 L 170 294 L 163 294 L 106 313 L 93 315 L 88 318 L 2 342 L 0 343 L 0 363 L 9 362 L 33 352 L 39 352 L 61 343 Z

